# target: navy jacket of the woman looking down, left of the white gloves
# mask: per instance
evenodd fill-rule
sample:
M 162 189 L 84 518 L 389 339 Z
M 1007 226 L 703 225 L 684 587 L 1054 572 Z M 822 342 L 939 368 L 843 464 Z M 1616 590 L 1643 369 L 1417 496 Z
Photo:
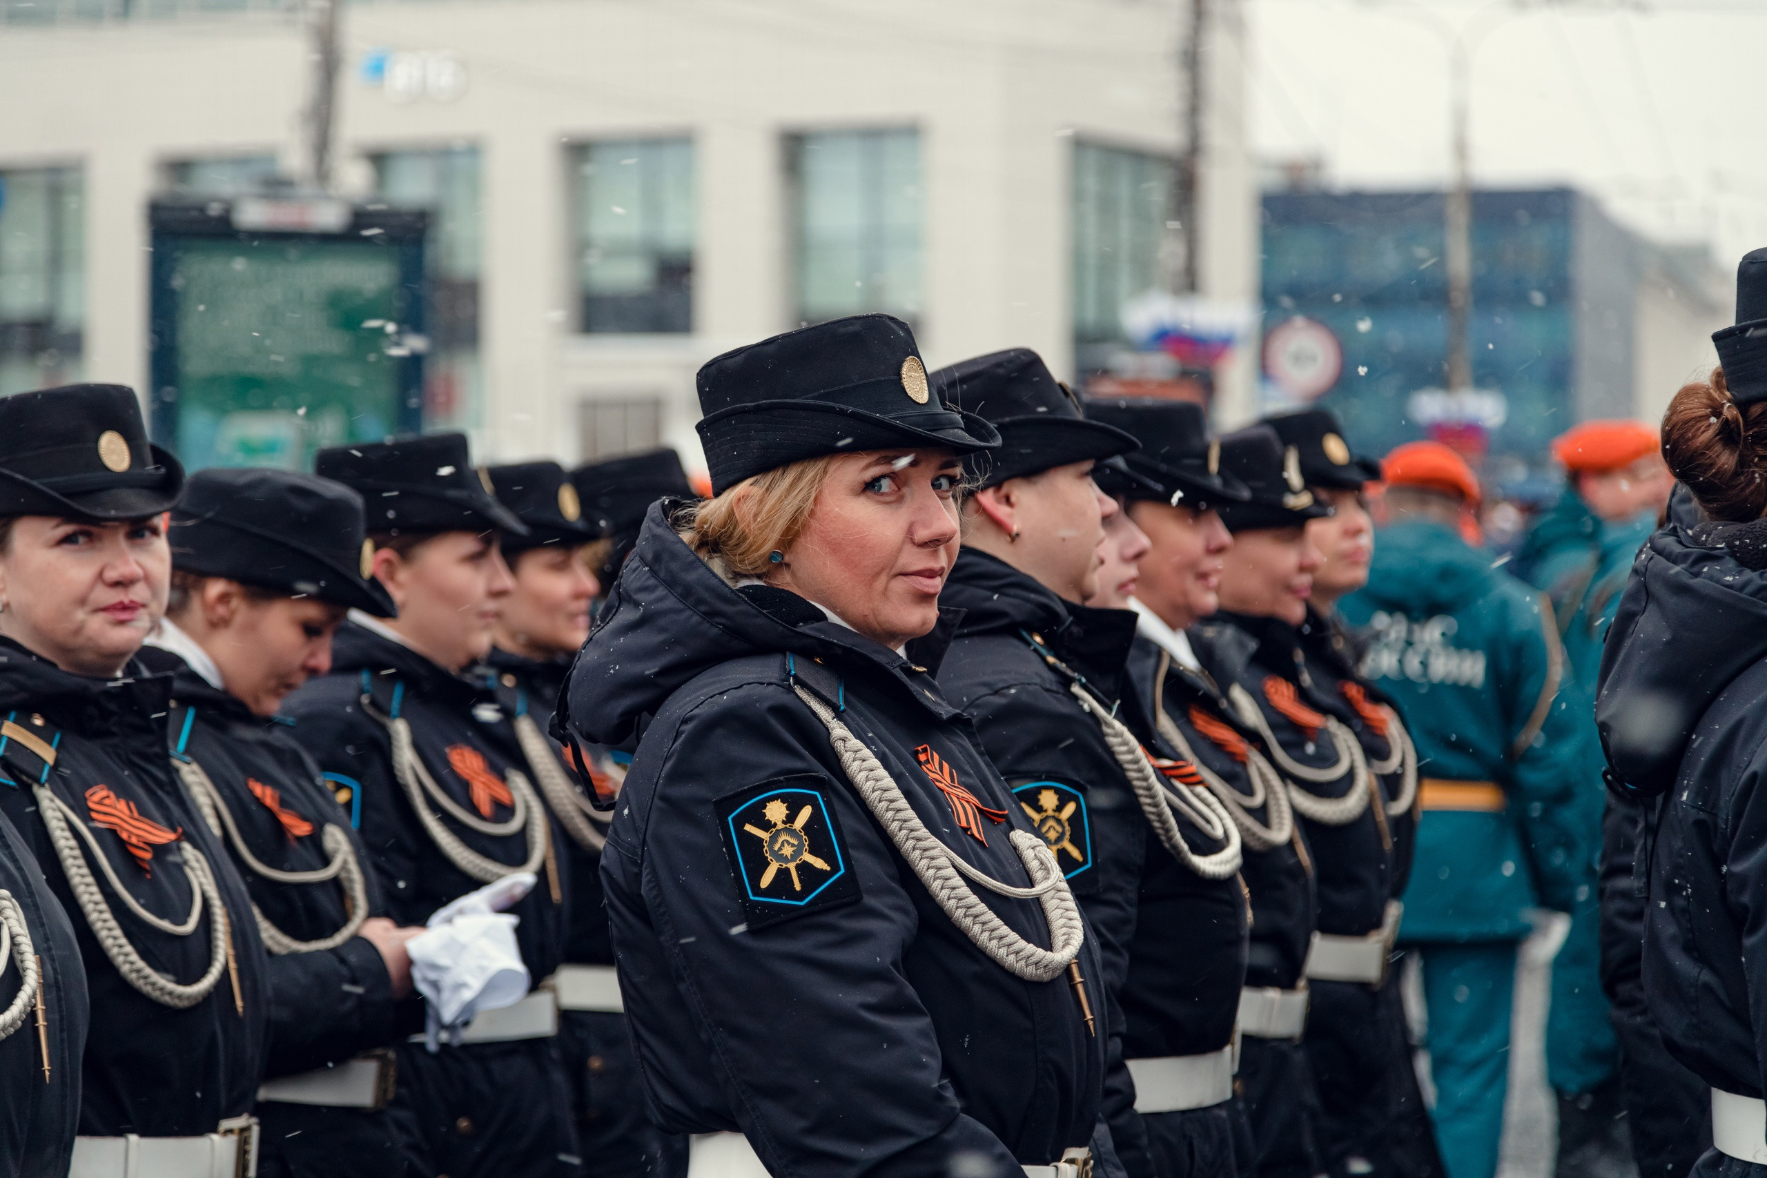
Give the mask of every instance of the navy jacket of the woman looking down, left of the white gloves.
M 209 685 L 175 653 L 147 648 L 141 661 L 173 675 L 175 696 L 166 715 L 171 754 L 203 768 L 251 855 L 274 871 L 318 871 L 330 862 L 322 844 L 323 830 L 336 825 L 350 835 L 357 862 L 362 864 L 369 915 L 383 917 L 380 881 L 350 825 L 350 812 L 337 804 L 313 758 L 293 742 L 288 724 L 253 715 L 244 703 Z M 270 797 L 288 821 L 270 809 Z M 318 941 L 348 922 L 345 890 L 337 880 L 269 880 L 239 857 L 224 827 L 217 837 L 226 842 L 253 904 L 288 936 Z M 364 938 L 353 936 L 337 948 L 318 952 L 270 954 L 265 1076 L 339 1063 L 415 1030 L 422 1030 L 422 1007 L 413 1001 L 399 1010 L 380 950 Z

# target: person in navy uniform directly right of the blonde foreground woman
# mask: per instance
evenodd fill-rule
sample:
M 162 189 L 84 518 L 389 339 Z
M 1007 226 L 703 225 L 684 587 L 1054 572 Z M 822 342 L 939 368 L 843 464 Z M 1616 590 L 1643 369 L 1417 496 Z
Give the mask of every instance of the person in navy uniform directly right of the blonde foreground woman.
M 1126 678 L 1136 615 L 1081 604 L 1097 592 L 1103 526 L 1120 512 L 1094 484 L 1094 461 L 1136 442 L 1085 420 L 1023 348 L 940 369 L 935 383 L 1000 431 L 965 502 L 944 595 L 965 615 L 938 682 L 975 719 L 1099 933 L 1126 1060 L 1104 1086 L 1117 1157 L 1133 1178 L 1246 1171 L 1228 1114 L 1246 970 L 1239 830 L 1141 751 L 1152 729 Z

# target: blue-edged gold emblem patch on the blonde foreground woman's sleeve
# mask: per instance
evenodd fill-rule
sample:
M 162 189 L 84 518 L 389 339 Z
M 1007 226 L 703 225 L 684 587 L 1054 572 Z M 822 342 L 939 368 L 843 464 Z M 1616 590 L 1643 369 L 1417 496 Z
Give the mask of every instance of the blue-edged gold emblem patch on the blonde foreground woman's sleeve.
M 829 781 L 799 774 L 714 804 L 749 929 L 859 899 Z

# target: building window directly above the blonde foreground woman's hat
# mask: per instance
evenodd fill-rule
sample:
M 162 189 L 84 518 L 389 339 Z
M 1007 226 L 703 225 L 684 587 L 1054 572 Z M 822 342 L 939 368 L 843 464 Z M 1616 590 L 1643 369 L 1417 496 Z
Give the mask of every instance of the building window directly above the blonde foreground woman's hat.
M 790 143 L 797 318 L 921 318 L 921 132 L 829 131 Z

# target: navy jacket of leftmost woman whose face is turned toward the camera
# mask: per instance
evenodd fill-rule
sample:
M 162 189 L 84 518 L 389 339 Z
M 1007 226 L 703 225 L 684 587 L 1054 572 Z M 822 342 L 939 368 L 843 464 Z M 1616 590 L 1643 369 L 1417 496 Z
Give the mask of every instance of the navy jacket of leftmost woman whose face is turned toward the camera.
M 81 1076 L 80 1132 L 113 1137 L 186 1137 L 209 1134 L 230 1116 L 251 1111 L 263 1074 L 269 978 L 258 924 L 246 885 L 221 842 L 203 825 L 166 756 L 164 715 L 171 678 L 166 675 L 87 678 L 58 669 L 11 639 L 0 639 L 0 717 L 30 731 L 55 733 L 55 763 L 46 765 L 21 742 L 0 749 L 0 811 L 25 835 L 49 887 L 67 910 L 85 961 L 92 1023 Z M 41 715 L 37 726 L 32 717 Z M 177 1010 L 140 993 L 104 955 L 74 901 L 72 888 L 37 812 L 32 786 L 48 784 L 92 830 L 106 860 L 129 892 L 154 915 L 182 922 L 191 911 L 191 881 L 178 851 L 194 846 L 214 871 L 228 911 L 244 1014 L 233 1000 L 228 970 L 196 1005 Z M 102 789 L 102 793 L 101 793 Z M 92 791 L 92 793 L 88 793 Z M 133 807 L 150 825 L 133 850 L 92 807 L 117 814 Z M 157 830 L 155 830 L 157 828 Z M 159 842 L 159 832 L 177 837 Z M 80 834 L 74 832 L 80 841 Z M 210 964 L 210 920 L 203 908 L 196 929 L 173 936 L 154 929 L 111 892 L 102 867 L 90 860 L 111 915 L 150 968 L 191 984 Z

